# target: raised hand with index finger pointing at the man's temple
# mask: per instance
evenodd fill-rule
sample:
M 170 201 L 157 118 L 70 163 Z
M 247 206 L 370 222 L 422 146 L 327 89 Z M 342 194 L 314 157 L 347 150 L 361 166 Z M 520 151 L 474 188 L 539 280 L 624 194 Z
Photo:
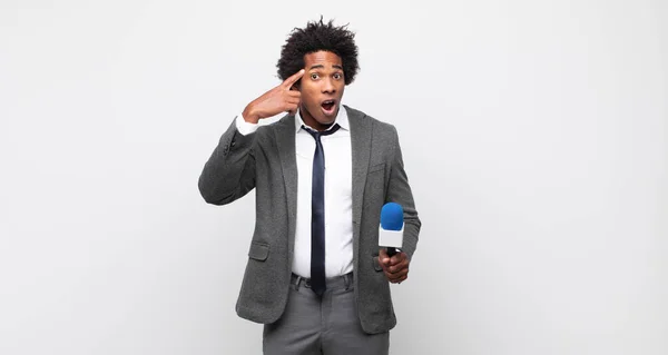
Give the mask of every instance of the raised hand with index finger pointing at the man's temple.
M 248 103 L 243 112 L 246 122 L 257 124 L 263 118 L 285 111 L 295 115 L 302 93 L 294 90 L 293 85 L 304 76 L 304 69 L 297 71 L 277 87 Z

